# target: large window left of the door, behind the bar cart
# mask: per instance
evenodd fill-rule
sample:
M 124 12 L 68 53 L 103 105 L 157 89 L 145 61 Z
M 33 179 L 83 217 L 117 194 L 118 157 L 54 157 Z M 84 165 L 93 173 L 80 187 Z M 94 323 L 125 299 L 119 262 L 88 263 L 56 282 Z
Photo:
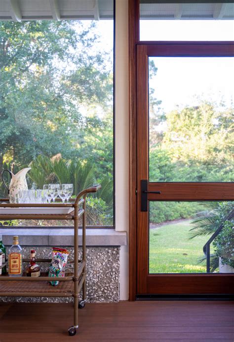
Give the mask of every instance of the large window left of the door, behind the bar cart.
M 82 8 L 85 20 L 0 22 L 0 169 L 29 166 L 29 188 L 73 183 L 74 195 L 100 183 L 87 203 L 91 226 L 113 226 L 113 1 L 108 5 L 101 18 L 108 20 L 90 20 Z M 2 184 L 0 192 L 6 195 Z

